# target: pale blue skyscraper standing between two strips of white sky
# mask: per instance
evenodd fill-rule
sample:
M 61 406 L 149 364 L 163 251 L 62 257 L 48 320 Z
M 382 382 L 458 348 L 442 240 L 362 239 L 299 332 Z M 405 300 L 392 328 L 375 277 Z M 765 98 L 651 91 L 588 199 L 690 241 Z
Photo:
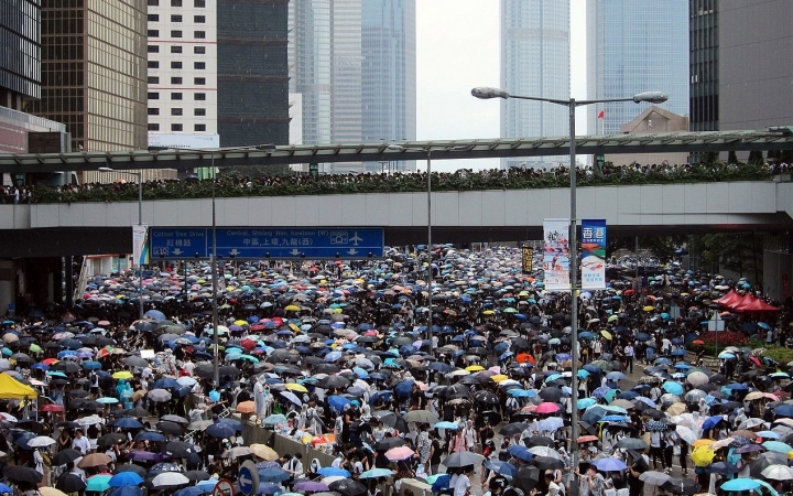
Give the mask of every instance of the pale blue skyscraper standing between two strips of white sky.
M 569 2 L 501 0 L 501 87 L 514 95 L 571 95 Z M 501 137 L 566 136 L 567 110 L 540 101 L 501 100 Z M 565 158 L 502 159 L 501 168 L 543 168 Z

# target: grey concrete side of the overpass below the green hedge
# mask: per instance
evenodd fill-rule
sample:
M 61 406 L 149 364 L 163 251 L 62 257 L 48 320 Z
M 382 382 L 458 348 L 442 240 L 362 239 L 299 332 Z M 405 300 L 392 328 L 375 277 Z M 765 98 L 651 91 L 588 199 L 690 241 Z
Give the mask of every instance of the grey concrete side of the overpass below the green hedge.
M 793 183 L 779 181 L 579 187 L 577 217 L 610 236 L 793 229 Z M 359 193 L 217 198 L 225 227 L 383 227 L 387 245 L 422 244 L 427 195 Z M 213 200 L 143 202 L 143 224 L 209 227 Z M 540 239 L 545 218 L 569 217 L 569 190 L 432 193 L 438 242 Z M 126 254 L 138 203 L 0 205 L 0 258 Z

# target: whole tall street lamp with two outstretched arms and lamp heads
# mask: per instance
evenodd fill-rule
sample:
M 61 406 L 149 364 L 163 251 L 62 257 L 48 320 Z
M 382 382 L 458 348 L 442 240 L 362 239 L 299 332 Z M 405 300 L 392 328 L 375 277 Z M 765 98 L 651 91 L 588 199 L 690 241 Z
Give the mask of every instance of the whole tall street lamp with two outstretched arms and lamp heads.
M 499 88 L 478 87 L 471 89 L 471 95 L 481 98 L 518 98 L 523 100 L 535 100 L 535 101 L 547 101 L 550 104 L 562 105 L 567 107 L 569 116 L 569 176 L 571 176 L 571 226 L 569 226 L 569 282 L 571 282 L 571 352 L 573 355 L 572 362 L 572 395 L 571 395 L 571 464 L 573 467 L 573 482 L 571 484 L 571 493 L 573 495 L 578 494 L 578 356 L 580 353 L 578 349 L 578 298 L 576 295 L 576 285 L 578 284 L 578 231 L 576 219 L 576 142 L 575 142 L 575 110 L 577 107 L 593 104 L 605 104 L 609 101 L 634 101 L 641 104 L 643 101 L 650 104 L 661 104 L 666 101 L 669 98 L 666 94 L 661 91 L 644 91 L 633 95 L 632 97 L 624 98 L 604 98 L 595 100 L 576 100 L 569 98 L 566 100 L 556 98 L 541 98 L 530 97 L 520 95 L 510 95 L 509 91 Z

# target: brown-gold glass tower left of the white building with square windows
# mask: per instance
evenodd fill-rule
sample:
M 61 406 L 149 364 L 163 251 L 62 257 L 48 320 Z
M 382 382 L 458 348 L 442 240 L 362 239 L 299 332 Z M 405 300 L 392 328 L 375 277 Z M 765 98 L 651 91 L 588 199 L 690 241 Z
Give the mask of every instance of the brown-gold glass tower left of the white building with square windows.
M 146 0 L 41 6 L 42 94 L 31 114 L 65 123 L 75 151 L 145 148 Z M 83 174 L 89 182 L 112 179 Z

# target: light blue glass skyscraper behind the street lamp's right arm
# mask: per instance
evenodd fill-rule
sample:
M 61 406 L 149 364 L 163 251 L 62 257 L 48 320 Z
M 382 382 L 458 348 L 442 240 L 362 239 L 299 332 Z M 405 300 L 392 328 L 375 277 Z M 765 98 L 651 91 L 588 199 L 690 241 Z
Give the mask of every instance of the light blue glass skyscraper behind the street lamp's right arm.
M 587 97 L 630 97 L 658 90 L 666 110 L 688 114 L 688 1 L 587 0 Z M 590 105 L 593 134 L 613 134 L 645 107 Z M 598 119 L 600 111 L 604 118 Z

